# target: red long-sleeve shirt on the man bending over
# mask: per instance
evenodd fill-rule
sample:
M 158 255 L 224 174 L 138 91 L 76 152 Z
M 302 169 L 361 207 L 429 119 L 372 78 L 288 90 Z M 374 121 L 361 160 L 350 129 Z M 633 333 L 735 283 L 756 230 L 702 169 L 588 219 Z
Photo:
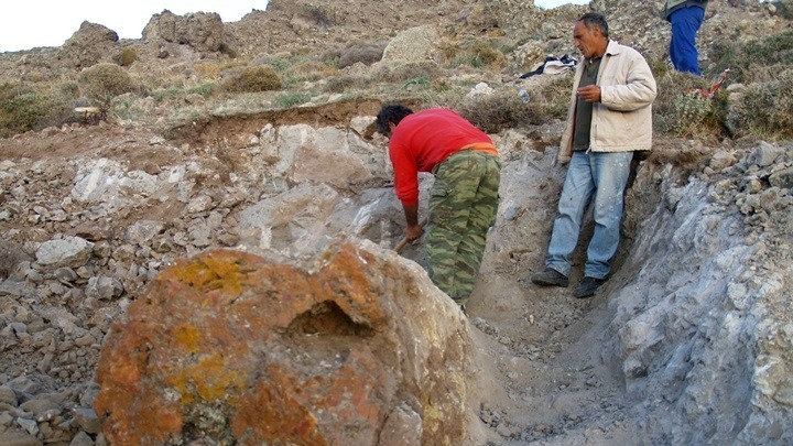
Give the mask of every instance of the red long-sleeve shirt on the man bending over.
M 389 142 L 394 187 L 402 204 L 419 203 L 419 172 L 432 172 L 463 149 L 498 155 L 490 137 L 453 110 L 431 108 L 404 117 Z

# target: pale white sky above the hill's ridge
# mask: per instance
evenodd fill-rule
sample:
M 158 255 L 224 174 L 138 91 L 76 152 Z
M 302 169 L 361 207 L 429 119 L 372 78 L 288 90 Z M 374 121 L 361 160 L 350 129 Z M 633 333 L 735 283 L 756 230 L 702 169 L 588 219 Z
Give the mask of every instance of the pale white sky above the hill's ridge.
M 565 3 L 589 1 L 534 1 L 545 9 Z M 151 17 L 165 9 L 174 14 L 217 12 L 228 23 L 253 9 L 265 10 L 267 0 L 4 0 L 0 7 L 0 52 L 61 46 L 86 20 L 116 31 L 119 39 L 141 39 Z

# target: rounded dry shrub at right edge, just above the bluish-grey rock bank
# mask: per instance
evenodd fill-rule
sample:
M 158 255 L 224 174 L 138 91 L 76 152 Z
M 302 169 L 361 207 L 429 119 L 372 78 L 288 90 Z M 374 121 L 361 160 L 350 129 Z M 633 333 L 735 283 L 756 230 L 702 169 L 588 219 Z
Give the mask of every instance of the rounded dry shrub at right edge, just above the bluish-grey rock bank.
M 739 137 L 793 138 L 793 69 L 776 80 L 747 86 L 730 105 L 728 123 Z

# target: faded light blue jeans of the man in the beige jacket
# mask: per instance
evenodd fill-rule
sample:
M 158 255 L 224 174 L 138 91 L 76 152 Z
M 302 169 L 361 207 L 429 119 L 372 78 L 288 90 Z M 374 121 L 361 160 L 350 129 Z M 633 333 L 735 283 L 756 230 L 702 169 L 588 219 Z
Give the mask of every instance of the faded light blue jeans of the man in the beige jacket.
M 595 233 L 587 249 L 584 275 L 596 279 L 608 275 L 609 262 L 619 246 L 622 194 L 632 159 L 633 152 L 573 152 L 545 266 L 569 276 L 584 211 L 594 195 Z

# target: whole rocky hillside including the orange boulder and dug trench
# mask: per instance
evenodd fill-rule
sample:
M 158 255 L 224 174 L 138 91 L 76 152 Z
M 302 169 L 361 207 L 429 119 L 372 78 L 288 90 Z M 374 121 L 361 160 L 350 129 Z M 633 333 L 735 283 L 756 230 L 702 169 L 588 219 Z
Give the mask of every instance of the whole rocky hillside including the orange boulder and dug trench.
M 713 0 L 696 80 L 669 72 L 660 4 L 271 0 L 0 54 L 0 94 L 67 106 L 0 139 L 0 444 L 790 444 L 793 143 L 743 98 L 793 73 L 793 9 Z M 613 275 L 579 301 L 524 280 L 564 181 L 571 76 L 519 76 L 575 54 L 589 9 L 666 90 Z M 747 69 L 719 96 L 686 99 L 725 44 L 756 40 L 773 64 L 732 58 Z M 134 88 L 75 113 L 99 105 L 80 76 L 97 64 Z M 256 67 L 280 87 L 235 90 Z M 784 129 L 775 98 L 761 119 Z M 403 217 L 371 123 L 392 100 L 458 109 L 501 151 L 467 317 L 420 244 L 391 250 Z

